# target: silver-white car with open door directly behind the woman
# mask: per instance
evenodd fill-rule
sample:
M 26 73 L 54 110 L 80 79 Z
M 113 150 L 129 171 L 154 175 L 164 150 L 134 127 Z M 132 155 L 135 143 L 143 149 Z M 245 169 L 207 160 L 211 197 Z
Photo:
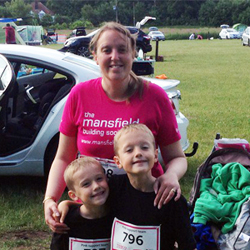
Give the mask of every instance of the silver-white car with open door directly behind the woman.
M 58 128 L 69 91 L 79 82 L 99 77 L 99 66 L 72 53 L 26 45 L 2 44 L 0 54 L 11 63 L 16 75 L 11 89 L 1 73 L 0 57 L 0 175 L 46 175 L 57 149 Z M 149 80 L 168 93 L 181 145 L 186 150 L 189 122 L 179 111 L 180 81 Z

